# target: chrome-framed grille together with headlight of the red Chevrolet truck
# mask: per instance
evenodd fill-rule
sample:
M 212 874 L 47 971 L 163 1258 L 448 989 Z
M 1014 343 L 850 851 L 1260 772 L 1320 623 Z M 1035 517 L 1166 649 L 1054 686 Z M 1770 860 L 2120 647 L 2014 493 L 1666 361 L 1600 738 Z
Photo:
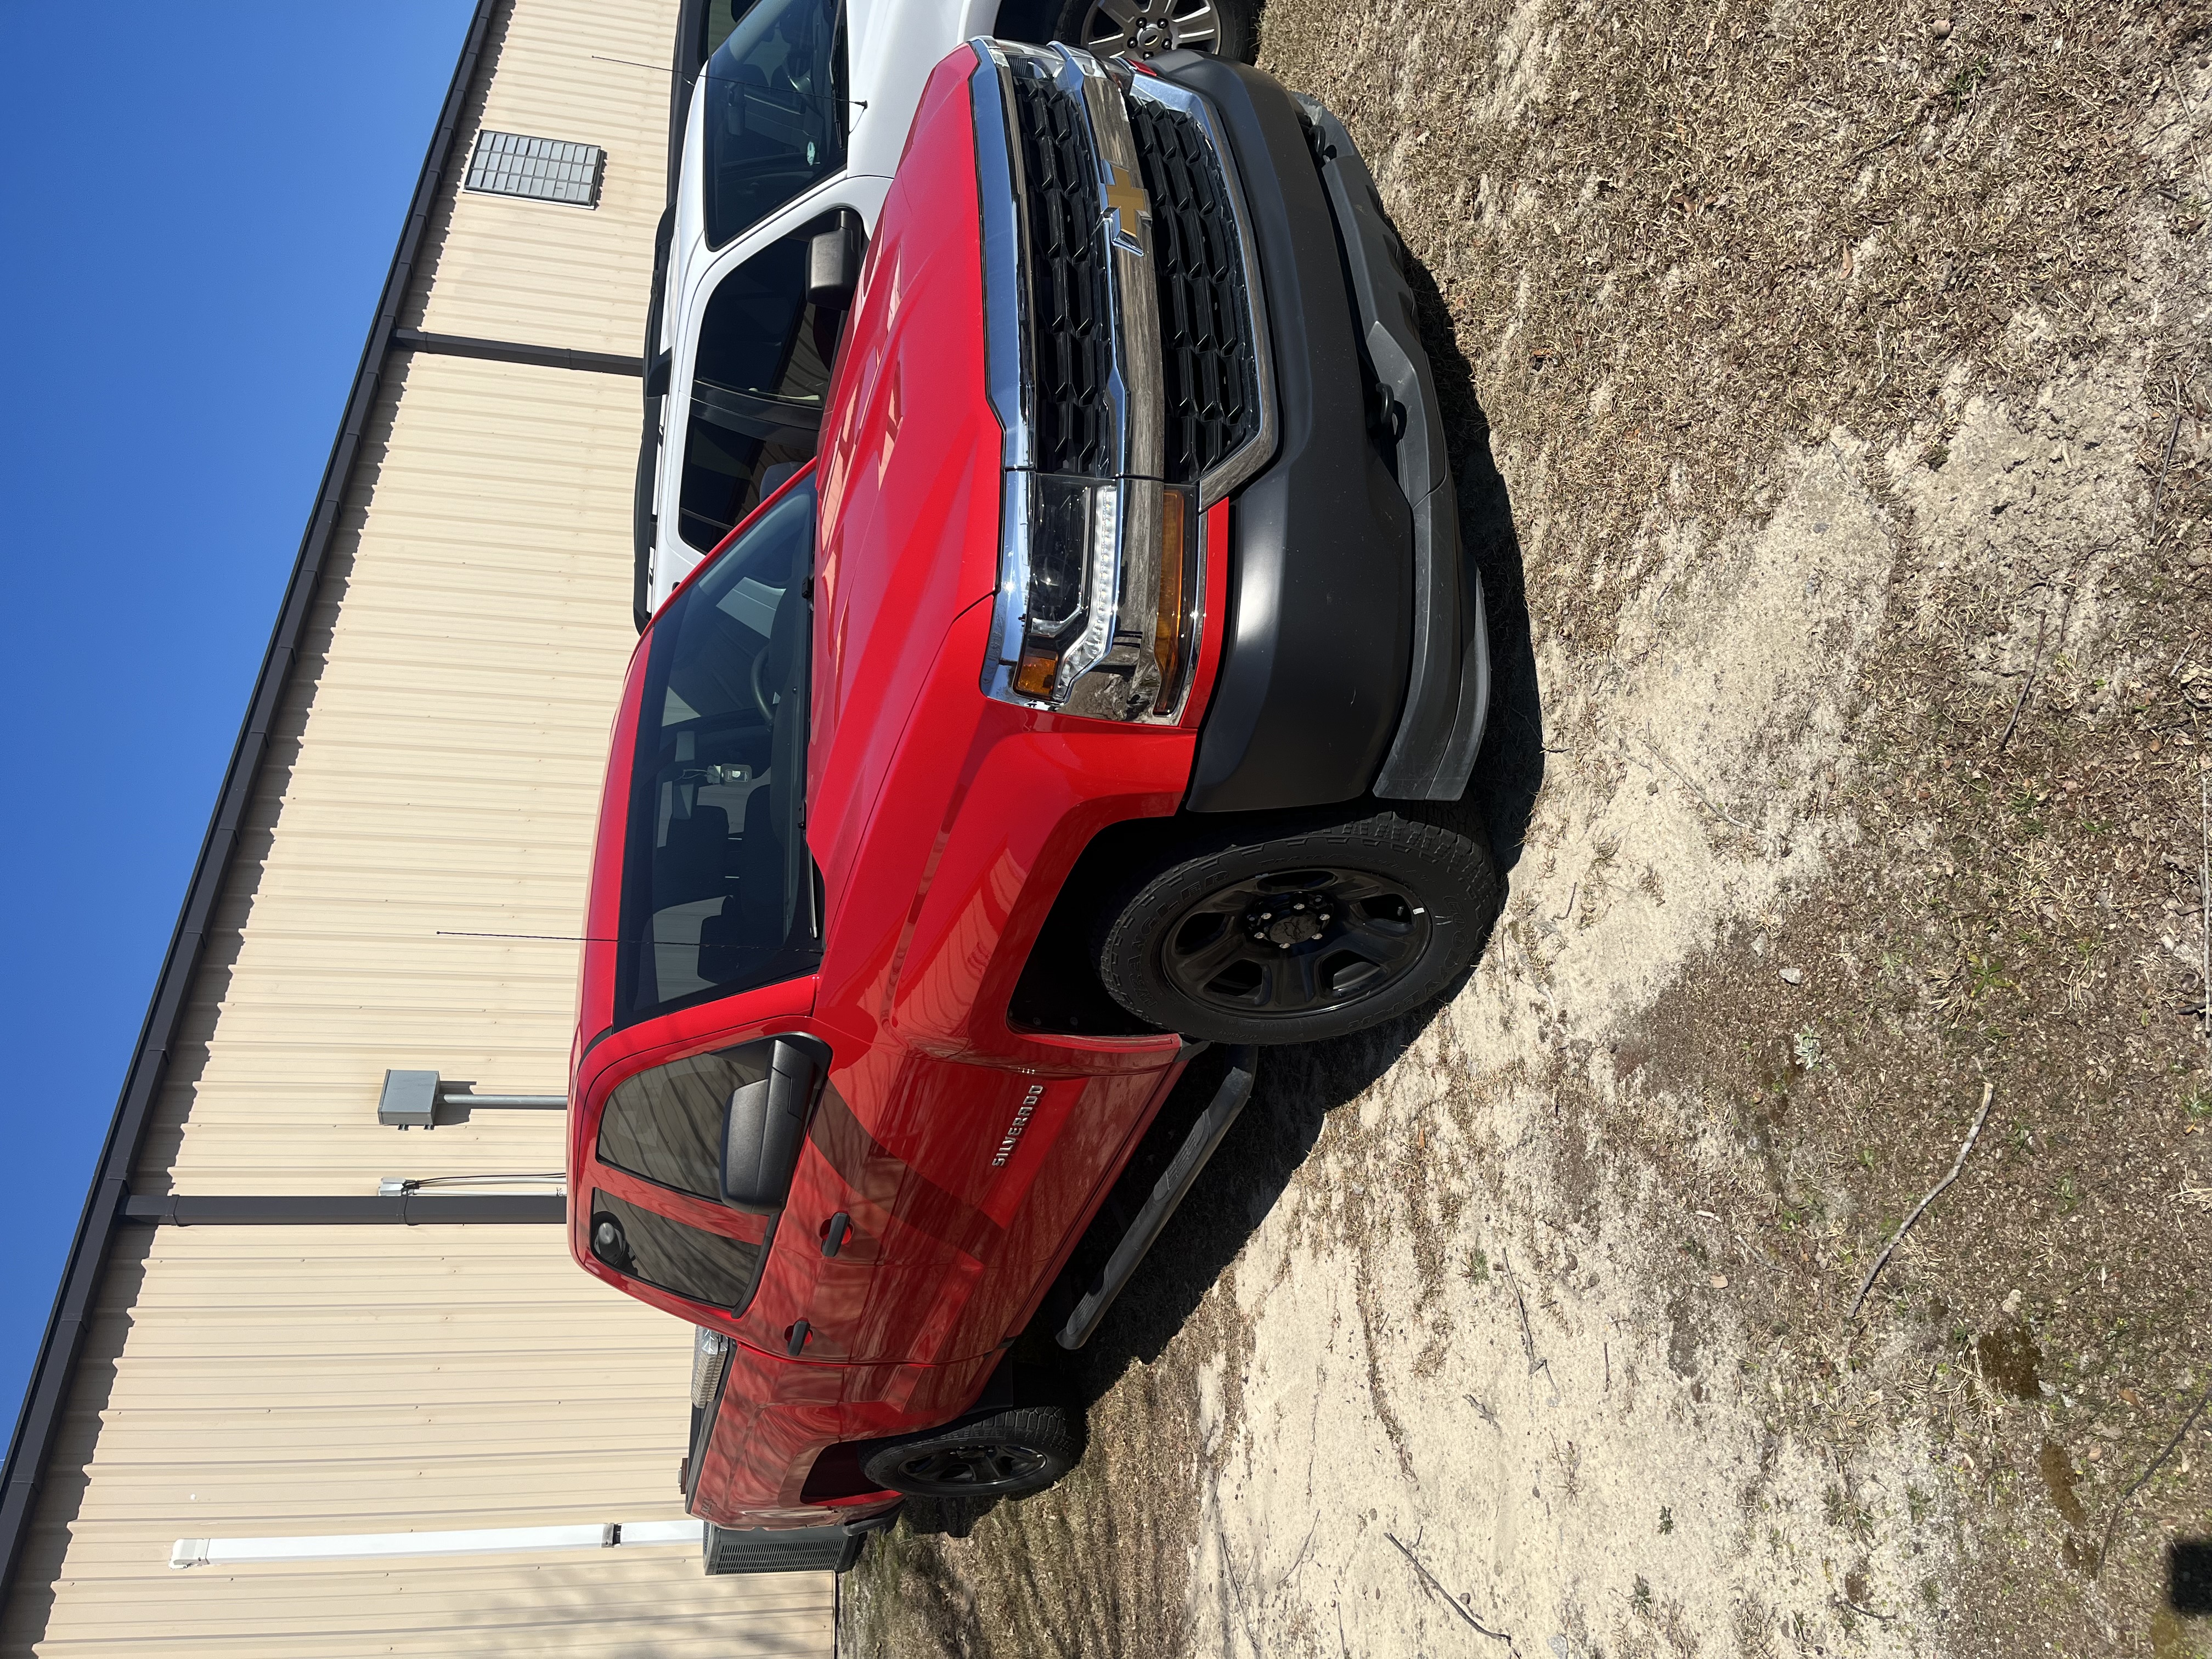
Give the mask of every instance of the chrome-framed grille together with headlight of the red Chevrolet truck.
M 1177 721 L 1210 604 L 1203 513 L 1276 434 L 1237 159 L 1186 86 L 1073 46 L 971 44 L 984 380 L 1006 469 L 982 690 Z

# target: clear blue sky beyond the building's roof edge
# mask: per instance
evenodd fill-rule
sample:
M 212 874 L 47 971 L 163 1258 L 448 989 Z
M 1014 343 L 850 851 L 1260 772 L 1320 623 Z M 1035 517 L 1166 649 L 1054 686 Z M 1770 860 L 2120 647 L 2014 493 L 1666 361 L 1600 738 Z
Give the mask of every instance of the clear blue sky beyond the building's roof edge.
M 0 7 L 9 1402 L 469 13 Z

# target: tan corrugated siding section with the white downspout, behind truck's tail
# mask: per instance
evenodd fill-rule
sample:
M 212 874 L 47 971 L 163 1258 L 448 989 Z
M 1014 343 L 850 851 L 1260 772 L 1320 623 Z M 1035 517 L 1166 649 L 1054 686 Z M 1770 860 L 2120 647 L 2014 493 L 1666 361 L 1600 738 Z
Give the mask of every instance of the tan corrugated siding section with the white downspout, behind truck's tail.
M 144 1234 L 69 1422 L 86 1478 L 51 1493 L 75 1515 L 20 1579 L 18 1617 L 53 1582 L 35 1650 L 825 1652 L 821 1575 L 708 1579 L 684 1548 L 166 1566 L 177 1537 L 681 1515 L 688 1332 L 597 1294 L 546 1232 Z

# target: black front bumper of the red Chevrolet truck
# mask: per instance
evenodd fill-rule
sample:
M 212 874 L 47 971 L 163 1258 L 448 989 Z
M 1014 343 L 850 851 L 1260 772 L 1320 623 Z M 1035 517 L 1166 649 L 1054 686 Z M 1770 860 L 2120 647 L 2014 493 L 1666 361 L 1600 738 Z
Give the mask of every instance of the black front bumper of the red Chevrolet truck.
M 1186 805 L 1458 799 L 1489 644 L 1405 250 L 1334 115 L 1245 64 L 1152 62 L 1214 104 L 1243 175 L 1281 431 L 1237 495 Z

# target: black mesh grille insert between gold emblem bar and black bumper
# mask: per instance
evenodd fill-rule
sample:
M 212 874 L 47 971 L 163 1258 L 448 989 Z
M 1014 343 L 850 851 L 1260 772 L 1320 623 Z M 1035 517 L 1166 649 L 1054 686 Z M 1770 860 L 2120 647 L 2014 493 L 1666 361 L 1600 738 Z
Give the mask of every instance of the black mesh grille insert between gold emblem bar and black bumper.
M 1168 394 L 1164 471 L 1188 484 L 1259 429 L 1243 250 L 1228 179 L 1199 124 L 1141 97 L 1128 100 L 1128 124 L 1152 197 L 1152 279 Z

